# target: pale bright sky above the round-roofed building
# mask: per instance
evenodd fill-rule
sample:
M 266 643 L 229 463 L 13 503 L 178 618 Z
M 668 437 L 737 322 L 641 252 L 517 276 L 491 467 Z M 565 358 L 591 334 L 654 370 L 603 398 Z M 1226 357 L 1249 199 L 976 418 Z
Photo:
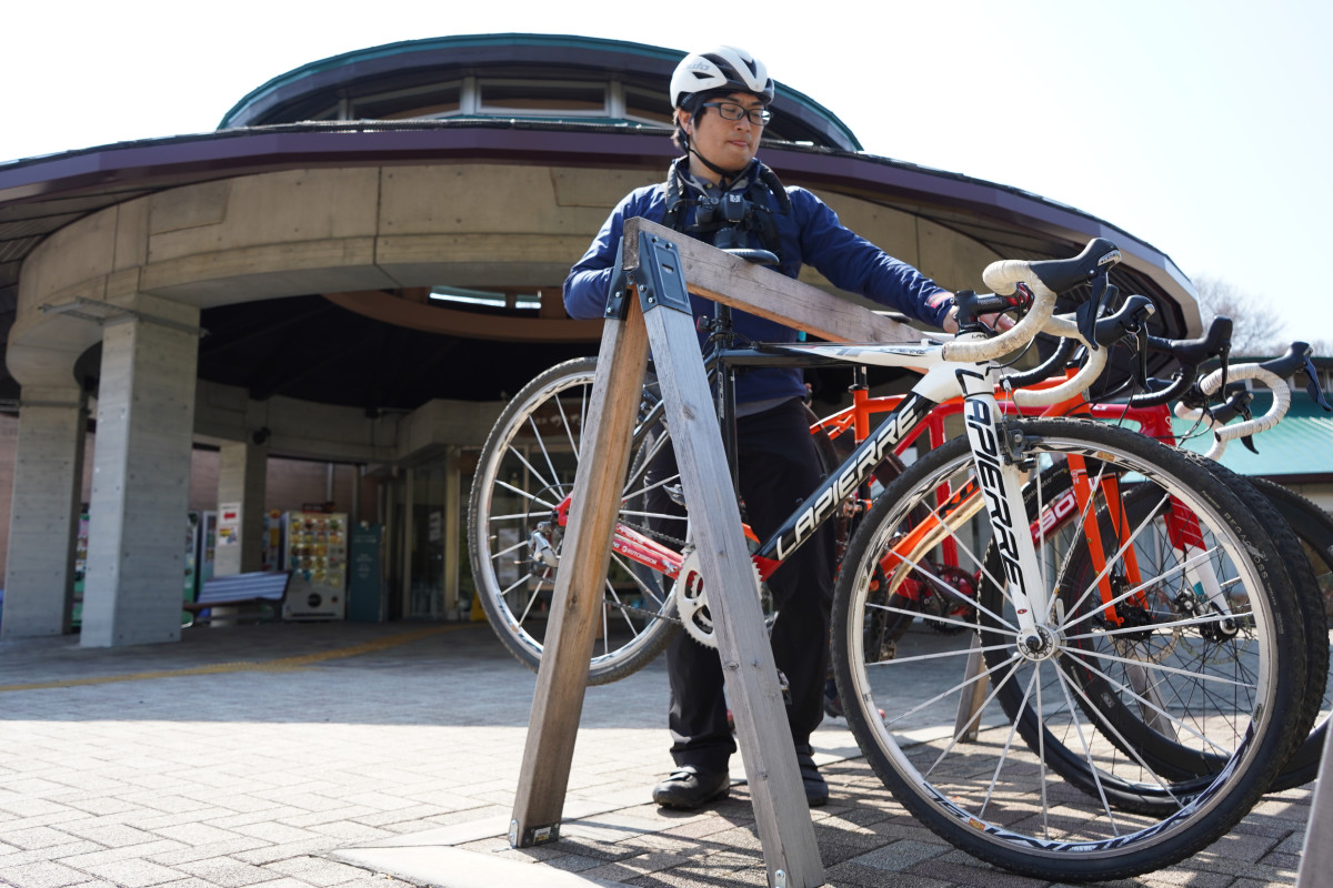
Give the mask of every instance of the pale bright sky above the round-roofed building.
M 400 40 L 527 32 L 680 51 L 732 44 L 840 117 L 866 152 L 1090 213 L 1190 278 L 1252 296 L 1278 316 L 1284 338 L 1320 341 L 1320 354 L 1333 354 L 1333 300 L 1318 262 L 1333 244 L 1326 0 L 713 9 L 624 0 L 21 4 L 4 15 L 0 161 L 212 132 L 275 76 Z

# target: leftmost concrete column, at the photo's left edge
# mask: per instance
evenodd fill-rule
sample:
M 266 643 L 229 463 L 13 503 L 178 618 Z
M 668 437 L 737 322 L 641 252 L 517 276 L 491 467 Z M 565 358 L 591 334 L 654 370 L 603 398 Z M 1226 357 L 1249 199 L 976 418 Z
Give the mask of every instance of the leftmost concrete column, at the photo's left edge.
M 77 386 L 23 390 L 0 638 L 69 631 L 87 411 Z

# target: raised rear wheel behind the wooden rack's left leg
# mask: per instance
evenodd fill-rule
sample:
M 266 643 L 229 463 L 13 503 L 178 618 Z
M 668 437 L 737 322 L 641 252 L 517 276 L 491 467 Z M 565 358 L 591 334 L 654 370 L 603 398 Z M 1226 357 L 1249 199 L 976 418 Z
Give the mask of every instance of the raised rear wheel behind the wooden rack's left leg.
M 545 638 L 543 607 L 549 607 L 559 575 L 559 564 L 544 563 L 535 553 L 533 534 L 544 533 L 555 558 L 563 555 L 564 534 L 553 514 L 573 491 L 596 365 L 596 358 L 565 361 L 524 386 L 496 419 L 473 475 L 468 555 L 477 595 L 500 642 L 533 672 Z M 661 425 L 641 422 L 635 431 L 621 507 L 629 523 L 641 523 L 627 513 L 636 511 L 636 497 L 641 499 L 649 447 L 660 447 L 664 439 Z M 545 531 L 543 525 L 548 525 Z M 665 575 L 612 553 L 589 684 L 632 675 L 666 647 L 678 630 L 670 586 Z M 627 595 L 627 587 L 633 592 Z

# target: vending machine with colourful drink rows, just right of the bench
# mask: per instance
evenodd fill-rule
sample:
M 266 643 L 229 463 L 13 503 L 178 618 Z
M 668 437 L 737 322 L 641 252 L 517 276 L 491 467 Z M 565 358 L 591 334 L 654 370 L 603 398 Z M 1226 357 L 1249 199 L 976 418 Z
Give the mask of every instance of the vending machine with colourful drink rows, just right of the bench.
M 283 618 L 340 620 L 347 616 L 347 545 L 344 513 L 289 511 L 283 515 L 287 587 Z

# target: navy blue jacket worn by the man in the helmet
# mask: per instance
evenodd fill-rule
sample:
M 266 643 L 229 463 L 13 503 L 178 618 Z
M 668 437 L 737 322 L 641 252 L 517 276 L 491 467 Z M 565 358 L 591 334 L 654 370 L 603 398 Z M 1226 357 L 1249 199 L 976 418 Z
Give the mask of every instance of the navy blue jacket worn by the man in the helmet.
M 752 161 L 750 176 L 757 174 L 758 161 Z M 742 177 L 744 180 L 745 177 Z M 949 313 L 949 301 L 942 298 L 944 288 L 925 277 L 906 262 L 900 262 L 865 238 L 844 228 L 829 206 L 804 188 L 788 188 L 790 212 L 782 213 L 772 194 L 766 194 L 769 209 L 777 222 L 782 264 L 778 270 L 796 277 L 802 264 L 814 266 L 834 286 L 870 298 L 881 305 L 902 312 L 908 317 L 938 328 Z M 641 216 L 661 222 L 666 213 L 666 186 L 648 185 L 627 194 L 611 212 L 597 237 L 565 278 L 565 310 L 575 318 L 600 318 L 607 310 L 607 290 L 611 286 L 616 249 L 624 233 L 625 220 Z M 693 222 L 690 206 L 682 226 Z M 750 236 L 753 248 L 762 248 L 758 234 Z M 938 297 L 932 300 L 932 297 Z M 710 316 L 713 302 L 690 294 L 694 317 Z M 933 304 L 932 304 L 933 302 Z M 736 332 L 758 342 L 793 342 L 796 330 L 754 317 L 745 312 L 733 313 Z M 738 375 L 737 403 L 772 398 L 805 397 L 805 383 L 800 370 L 756 369 Z

